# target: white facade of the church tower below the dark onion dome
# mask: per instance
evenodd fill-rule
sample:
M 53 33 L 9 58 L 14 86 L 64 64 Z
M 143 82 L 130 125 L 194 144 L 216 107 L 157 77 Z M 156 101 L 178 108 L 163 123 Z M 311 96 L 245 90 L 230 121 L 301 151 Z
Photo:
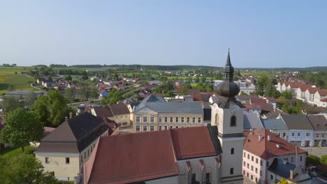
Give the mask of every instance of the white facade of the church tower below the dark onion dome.
M 243 183 L 242 149 L 245 139 L 243 135 L 244 110 L 245 108 L 240 108 L 237 105 L 233 105 L 229 109 L 222 109 L 218 107 L 217 103 L 212 105 L 211 122 L 212 125 L 218 126 L 218 139 L 222 149 L 221 183 Z

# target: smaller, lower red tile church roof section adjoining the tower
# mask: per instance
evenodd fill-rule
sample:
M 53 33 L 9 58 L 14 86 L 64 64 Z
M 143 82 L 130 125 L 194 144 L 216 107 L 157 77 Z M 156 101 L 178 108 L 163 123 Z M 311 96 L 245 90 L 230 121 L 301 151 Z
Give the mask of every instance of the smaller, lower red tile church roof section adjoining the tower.
M 207 127 L 170 129 L 177 160 L 217 155 Z

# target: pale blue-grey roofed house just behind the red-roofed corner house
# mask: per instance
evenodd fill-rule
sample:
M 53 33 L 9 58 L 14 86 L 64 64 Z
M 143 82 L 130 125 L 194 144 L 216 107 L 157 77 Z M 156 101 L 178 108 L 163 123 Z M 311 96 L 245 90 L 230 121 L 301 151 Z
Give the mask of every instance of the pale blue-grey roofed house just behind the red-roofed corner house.
M 284 139 L 289 133 L 289 128 L 280 118 L 272 119 L 261 119 L 263 128 L 266 128 L 270 132 L 273 132 L 275 135 L 282 137 Z

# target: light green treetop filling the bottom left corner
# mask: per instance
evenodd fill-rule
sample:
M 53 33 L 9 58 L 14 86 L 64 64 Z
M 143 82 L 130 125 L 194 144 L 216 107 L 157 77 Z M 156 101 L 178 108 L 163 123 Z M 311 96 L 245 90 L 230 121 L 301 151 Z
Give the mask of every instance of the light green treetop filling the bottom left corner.
M 53 172 L 44 171 L 42 163 L 34 155 L 1 156 L 0 172 L 1 183 L 59 183 Z

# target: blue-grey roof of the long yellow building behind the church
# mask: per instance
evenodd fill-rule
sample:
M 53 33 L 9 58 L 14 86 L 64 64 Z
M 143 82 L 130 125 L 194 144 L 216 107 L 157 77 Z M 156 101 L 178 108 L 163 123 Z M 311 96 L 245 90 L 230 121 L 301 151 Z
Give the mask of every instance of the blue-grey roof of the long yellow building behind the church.
M 149 107 L 159 113 L 203 114 L 202 105 L 199 102 L 147 102 L 143 107 Z

